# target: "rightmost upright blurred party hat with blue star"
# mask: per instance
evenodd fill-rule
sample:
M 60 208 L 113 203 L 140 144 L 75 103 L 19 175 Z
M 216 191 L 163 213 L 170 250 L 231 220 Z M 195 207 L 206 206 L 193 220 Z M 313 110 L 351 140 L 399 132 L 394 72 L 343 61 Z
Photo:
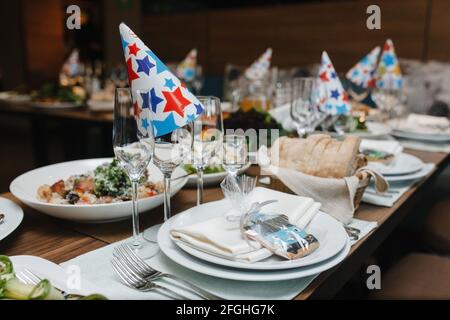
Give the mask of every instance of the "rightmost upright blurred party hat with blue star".
M 399 90 L 403 86 L 400 64 L 391 39 L 387 39 L 383 47 L 376 71 L 376 86 L 388 90 Z

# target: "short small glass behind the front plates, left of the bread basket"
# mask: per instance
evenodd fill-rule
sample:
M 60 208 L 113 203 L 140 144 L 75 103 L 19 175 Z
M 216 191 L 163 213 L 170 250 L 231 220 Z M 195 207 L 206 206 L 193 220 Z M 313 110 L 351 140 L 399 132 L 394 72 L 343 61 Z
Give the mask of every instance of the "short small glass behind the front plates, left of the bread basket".
M 248 161 L 247 139 L 242 135 L 227 134 L 223 138 L 222 166 L 231 177 L 236 177 Z

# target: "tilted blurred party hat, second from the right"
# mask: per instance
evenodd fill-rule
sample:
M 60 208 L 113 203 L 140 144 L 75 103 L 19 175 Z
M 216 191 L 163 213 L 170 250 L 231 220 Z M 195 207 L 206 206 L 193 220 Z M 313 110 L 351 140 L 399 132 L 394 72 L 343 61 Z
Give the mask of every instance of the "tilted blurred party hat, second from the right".
M 380 47 L 376 47 L 370 51 L 368 55 L 362 58 L 357 64 L 351 68 L 346 77 L 354 84 L 363 88 L 371 88 L 375 86 L 375 69 L 380 54 Z

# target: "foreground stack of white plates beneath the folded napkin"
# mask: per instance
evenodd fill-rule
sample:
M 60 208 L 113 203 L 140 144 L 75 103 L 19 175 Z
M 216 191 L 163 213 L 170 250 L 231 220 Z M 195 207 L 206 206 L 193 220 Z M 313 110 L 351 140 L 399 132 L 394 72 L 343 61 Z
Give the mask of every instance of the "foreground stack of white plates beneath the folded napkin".
M 323 212 L 319 212 L 307 227 L 307 231 L 319 240 L 319 248 L 296 260 L 272 256 L 255 263 L 239 262 L 211 255 L 171 239 L 171 229 L 224 215 L 229 209 L 229 203 L 220 200 L 172 217 L 158 233 L 161 251 L 175 263 L 205 275 L 240 281 L 279 281 L 319 274 L 339 264 L 350 250 L 350 241 L 342 224 Z

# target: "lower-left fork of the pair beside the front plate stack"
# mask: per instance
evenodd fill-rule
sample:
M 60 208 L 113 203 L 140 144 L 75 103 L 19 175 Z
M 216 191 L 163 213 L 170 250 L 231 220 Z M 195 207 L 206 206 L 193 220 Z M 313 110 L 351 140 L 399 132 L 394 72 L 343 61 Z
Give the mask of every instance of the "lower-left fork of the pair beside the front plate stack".
M 167 287 L 142 278 L 120 259 L 114 258 L 113 260 L 111 260 L 111 264 L 119 278 L 122 279 L 122 281 L 130 288 L 142 292 L 160 290 L 178 300 L 190 300 Z

